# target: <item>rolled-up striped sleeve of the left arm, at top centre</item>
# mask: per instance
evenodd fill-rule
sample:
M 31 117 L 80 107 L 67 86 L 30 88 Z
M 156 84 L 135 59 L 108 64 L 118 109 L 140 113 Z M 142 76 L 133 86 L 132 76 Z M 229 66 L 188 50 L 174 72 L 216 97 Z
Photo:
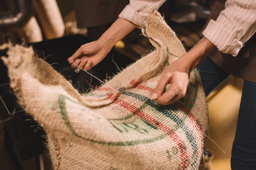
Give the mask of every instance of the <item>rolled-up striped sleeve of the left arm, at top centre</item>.
M 123 11 L 119 14 L 119 17 L 134 23 L 139 28 L 143 28 L 145 27 L 148 12 L 152 9 L 158 10 L 164 1 L 165 0 L 130 0 L 129 5 L 125 6 Z

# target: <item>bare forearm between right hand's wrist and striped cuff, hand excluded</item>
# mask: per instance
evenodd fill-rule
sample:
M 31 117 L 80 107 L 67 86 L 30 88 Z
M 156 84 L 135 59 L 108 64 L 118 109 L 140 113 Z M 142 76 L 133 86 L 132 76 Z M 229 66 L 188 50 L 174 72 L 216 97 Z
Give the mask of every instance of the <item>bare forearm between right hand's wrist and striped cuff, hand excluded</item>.
M 181 56 L 179 60 L 185 64 L 190 72 L 216 49 L 207 38 L 203 37 L 189 52 Z

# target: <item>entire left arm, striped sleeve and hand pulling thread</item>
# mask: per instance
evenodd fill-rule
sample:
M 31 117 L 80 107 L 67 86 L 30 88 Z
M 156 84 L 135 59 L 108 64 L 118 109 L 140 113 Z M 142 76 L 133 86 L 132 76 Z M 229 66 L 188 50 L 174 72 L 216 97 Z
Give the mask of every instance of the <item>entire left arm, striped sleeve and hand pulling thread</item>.
M 151 9 L 158 9 L 165 0 L 130 0 L 130 4 L 119 14 L 113 25 L 94 42 L 82 45 L 69 59 L 72 68 L 89 70 L 102 61 L 113 45 L 122 40 L 134 28 L 145 27 Z M 75 64 L 72 64 L 72 63 Z M 79 69 L 80 69 L 79 68 Z

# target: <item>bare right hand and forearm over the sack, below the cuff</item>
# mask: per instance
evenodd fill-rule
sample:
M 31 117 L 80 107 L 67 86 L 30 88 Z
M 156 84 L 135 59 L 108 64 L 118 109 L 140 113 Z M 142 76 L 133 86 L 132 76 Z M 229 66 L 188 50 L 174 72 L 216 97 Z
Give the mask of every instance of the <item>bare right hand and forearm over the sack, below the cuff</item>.
M 156 89 L 150 91 L 151 99 L 162 105 L 169 105 L 184 97 L 190 72 L 215 49 L 216 47 L 209 40 L 202 38 L 189 52 L 166 68 Z M 167 84 L 171 85 L 168 91 L 165 91 Z

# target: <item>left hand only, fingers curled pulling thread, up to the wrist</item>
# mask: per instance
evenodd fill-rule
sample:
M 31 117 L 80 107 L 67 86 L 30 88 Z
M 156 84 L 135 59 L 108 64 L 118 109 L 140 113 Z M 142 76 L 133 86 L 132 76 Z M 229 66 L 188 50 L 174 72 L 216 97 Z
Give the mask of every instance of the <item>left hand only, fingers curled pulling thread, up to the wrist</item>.
M 77 68 L 79 65 L 79 70 L 83 68 L 84 70 L 90 70 L 93 66 L 97 65 L 102 61 L 110 51 L 109 48 L 104 48 L 103 42 L 100 40 L 93 41 L 82 45 L 69 59 L 69 63 L 72 68 Z M 76 64 L 73 64 L 73 62 Z

